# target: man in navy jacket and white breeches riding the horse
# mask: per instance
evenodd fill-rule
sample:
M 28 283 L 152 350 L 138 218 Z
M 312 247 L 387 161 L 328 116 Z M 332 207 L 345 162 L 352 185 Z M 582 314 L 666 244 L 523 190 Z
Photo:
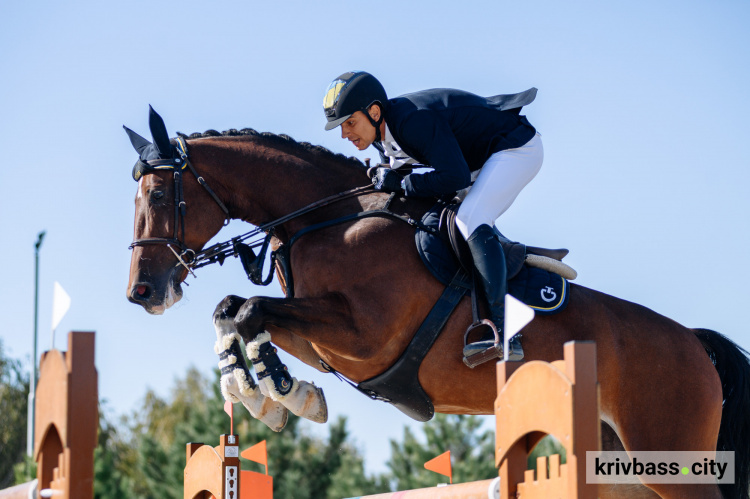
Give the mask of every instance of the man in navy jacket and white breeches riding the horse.
M 539 133 L 521 108 L 536 88 L 513 95 L 479 97 L 454 89 L 432 89 L 388 99 L 371 74 L 347 72 L 328 87 L 323 107 L 325 129 L 341 126 L 341 137 L 360 151 L 373 145 L 389 168 L 375 170 L 375 188 L 407 197 L 453 195 L 471 185 L 456 223 L 466 239 L 490 310 L 502 339 L 507 271 L 495 220 L 539 172 L 543 149 Z M 432 171 L 397 173 L 403 165 Z M 408 168 L 408 167 L 407 167 Z M 492 349 L 492 350 L 490 350 Z M 518 336 L 510 340 L 511 360 L 523 358 Z M 490 332 L 464 348 L 464 356 L 502 355 Z

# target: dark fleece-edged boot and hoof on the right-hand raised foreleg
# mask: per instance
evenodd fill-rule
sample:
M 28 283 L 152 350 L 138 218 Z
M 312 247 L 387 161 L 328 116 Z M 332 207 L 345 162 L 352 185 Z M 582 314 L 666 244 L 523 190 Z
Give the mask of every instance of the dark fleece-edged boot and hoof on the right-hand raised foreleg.
M 307 381 L 293 378 L 281 363 L 271 345 L 271 335 L 259 334 L 246 344 L 247 356 L 252 361 L 258 383 L 264 393 L 278 400 L 297 416 L 316 423 L 328 421 L 328 406 L 323 390 Z

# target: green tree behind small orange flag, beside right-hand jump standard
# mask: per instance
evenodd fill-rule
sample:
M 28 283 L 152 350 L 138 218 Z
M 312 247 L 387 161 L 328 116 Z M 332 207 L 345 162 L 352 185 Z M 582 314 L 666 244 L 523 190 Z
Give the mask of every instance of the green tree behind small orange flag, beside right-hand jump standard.
M 424 468 L 424 463 L 451 451 L 453 483 L 484 480 L 497 476 L 495 469 L 495 437 L 491 430 L 481 431 L 477 416 L 436 414 L 424 424 L 425 443 L 421 443 L 408 427 L 401 443 L 391 441 L 392 485 L 395 490 L 434 487 L 446 483 L 442 477 Z

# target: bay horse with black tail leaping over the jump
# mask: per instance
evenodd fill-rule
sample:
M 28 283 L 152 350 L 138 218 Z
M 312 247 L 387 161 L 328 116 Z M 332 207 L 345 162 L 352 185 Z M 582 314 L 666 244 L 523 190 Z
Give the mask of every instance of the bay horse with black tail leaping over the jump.
M 180 283 L 195 267 L 195 255 L 228 219 L 261 228 L 277 221 L 271 240 L 278 247 L 306 227 L 382 207 L 389 198 L 357 190 L 370 183 L 358 160 L 283 135 L 246 129 L 170 140 L 153 110 L 150 125 L 153 142 L 126 129 L 140 153 L 127 296 L 150 313 L 163 313 L 180 299 Z M 342 192 L 353 194 L 336 199 Z M 394 202 L 424 211 L 424 200 Z M 226 349 L 225 360 L 238 353 L 229 348 L 231 337 L 241 337 L 248 355 L 264 361 L 256 372 L 259 366 L 273 370 L 275 350 L 267 348 L 272 341 L 321 371 L 323 361 L 361 382 L 398 359 L 444 290 L 420 260 L 414 228 L 392 218 L 357 218 L 310 232 L 295 242 L 289 265 L 293 298 L 228 297 L 219 304 L 217 345 L 229 340 L 217 353 Z M 686 328 L 641 305 L 580 285 L 571 284 L 569 293 L 564 311 L 538 316 L 524 329 L 525 360 L 551 362 L 562 358 L 567 341 L 596 342 L 605 449 L 735 452 L 735 484 L 721 489 L 649 484 L 614 487 L 602 496 L 747 497 L 747 353 L 719 333 Z M 464 298 L 419 368 L 419 383 L 438 412 L 493 413 L 494 363 L 469 369 L 462 362 L 471 316 Z M 312 415 L 297 409 L 324 420 L 324 408 L 313 400 L 321 394 L 300 385 L 307 402 L 318 406 Z M 274 395 L 269 387 L 263 392 Z M 255 406 L 256 413 L 273 413 L 278 422 L 285 411 L 279 397 L 260 399 L 265 405 Z

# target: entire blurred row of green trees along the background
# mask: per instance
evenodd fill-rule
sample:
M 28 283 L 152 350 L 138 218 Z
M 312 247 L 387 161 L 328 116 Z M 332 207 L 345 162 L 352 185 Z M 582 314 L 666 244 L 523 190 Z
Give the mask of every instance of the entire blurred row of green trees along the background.
M 218 444 L 229 433 L 223 412 L 219 374 L 214 379 L 190 369 L 176 379 L 168 396 L 148 391 L 141 407 L 113 422 L 106 403 L 100 406 L 98 447 L 94 457 L 94 495 L 106 499 L 181 498 L 185 446 L 188 442 Z M 28 375 L 21 363 L 4 356 L 0 344 L 0 488 L 26 478 L 26 407 Z M 494 434 L 476 416 L 437 414 L 415 435 L 404 428 L 401 442 L 391 441 L 389 472 L 365 473 L 364 459 L 340 418 L 327 425 L 326 438 L 310 434 L 302 420 L 290 414 L 287 427 L 275 433 L 236 406 L 234 432 L 241 449 L 268 442 L 269 473 L 276 499 L 335 499 L 395 490 L 433 487 L 447 478 L 424 463 L 451 451 L 454 483 L 497 476 Z M 544 439 L 530 456 L 560 452 L 554 439 Z M 563 451 L 564 452 L 564 451 Z M 563 457 L 564 460 L 564 457 Z M 242 460 L 242 468 L 263 472 L 263 466 Z

